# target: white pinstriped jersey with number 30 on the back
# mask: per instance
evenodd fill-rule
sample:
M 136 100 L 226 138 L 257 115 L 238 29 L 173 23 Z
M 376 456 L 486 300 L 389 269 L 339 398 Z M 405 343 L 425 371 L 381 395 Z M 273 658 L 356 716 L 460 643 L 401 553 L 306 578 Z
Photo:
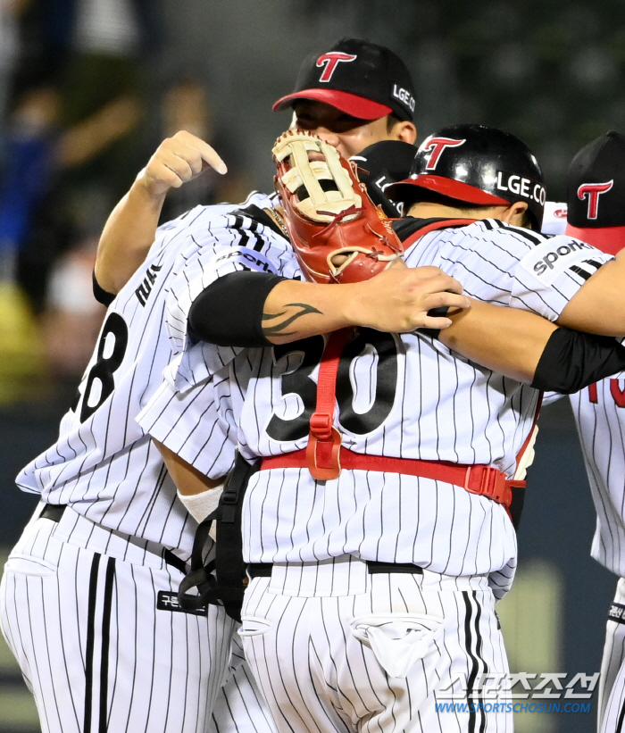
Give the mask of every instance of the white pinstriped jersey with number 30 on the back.
M 213 262 L 213 277 L 221 274 L 221 256 Z M 409 247 L 405 259 L 410 266 L 437 265 L 459 279 L 469 296 L 555 320 L 609 257 L 569 237 L 544 237 L 487 220 L 432 232 Z M 241 262 L 232 258 L 228 266 Z M 204 273 L 203 283 L 208 281 Z M 225 389 L 223 399 L 234 405 L 246 457 L 289 453 L 307 444 L 323 348 L 324 339 L 312 337 L 249 352 L 234 360 L 229 379 L 223 372 L 215 375 L 218 394 Z M 210 349 L 192 347 L 187 353 L 196 351 L 196 357 L 188 362 L 200 362 Z M 174 376 L 187 388 L 193 371 L 185 370 L 183 378 L 181 373 Z M 163 390 L 155 402 L 167 402 Z M 190 390 L 188 401 L 193 397 Z M 171 401 L 169 409 L 180 412 L 183 403 Z M 335 425 L 344 445 L 357 453 L 487 463 L 510 476 L 536 405 L 535 390 L 453 354 L 431 337 L 359 329 L 338 368 Z M 162 404 L 158 410 L 163 414 Z M 192 432 L 193 422 L 188 427 Z M 342 471 L 337 480 L 315 482 L 306 470 L 260 471 L 246 494 L 243 529 L 248 562 L 353 554 L 464 575 L 513 566 L 516 554 L 501 505 L 461 487 L 396 473 Z

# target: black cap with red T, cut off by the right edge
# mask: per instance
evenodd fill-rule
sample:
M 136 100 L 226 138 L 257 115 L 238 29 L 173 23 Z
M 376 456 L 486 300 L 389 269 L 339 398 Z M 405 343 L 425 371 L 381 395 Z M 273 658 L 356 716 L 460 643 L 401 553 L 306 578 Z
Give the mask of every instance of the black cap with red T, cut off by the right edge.
M 566 233 L 616 254 L 625 246 L 625 136 L 606 132 L 582 147 L 567 176 Z

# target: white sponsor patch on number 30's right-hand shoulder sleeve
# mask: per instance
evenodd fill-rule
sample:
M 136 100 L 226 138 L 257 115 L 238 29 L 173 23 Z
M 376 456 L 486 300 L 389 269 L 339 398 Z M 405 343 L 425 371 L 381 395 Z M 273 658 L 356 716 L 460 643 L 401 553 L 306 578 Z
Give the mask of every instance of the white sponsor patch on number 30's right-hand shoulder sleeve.
M 523 270 L 540 280 L 543 285 L 553 285 L 563 271 L 571 270 L 587 279 L 606 258 L 595 247 L 571 237 L 552 237 L 532 249 L 519 262 Z

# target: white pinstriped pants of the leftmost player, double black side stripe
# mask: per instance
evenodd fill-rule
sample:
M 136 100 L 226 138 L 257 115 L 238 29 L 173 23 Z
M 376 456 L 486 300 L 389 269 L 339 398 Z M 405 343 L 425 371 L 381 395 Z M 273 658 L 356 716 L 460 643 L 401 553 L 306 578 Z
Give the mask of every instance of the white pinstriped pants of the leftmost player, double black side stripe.
M 0 626 L 44 733 L 204 733 L 213 709 L 220 733 L 271 733 L 245 668 L 222 687 L 237 623 L 179 610 L 182 573 L 161 546 L 69 508 L 58 523 L 37 513 L 5 566 Z M 237 721 L 228 697 L 245 700 Z

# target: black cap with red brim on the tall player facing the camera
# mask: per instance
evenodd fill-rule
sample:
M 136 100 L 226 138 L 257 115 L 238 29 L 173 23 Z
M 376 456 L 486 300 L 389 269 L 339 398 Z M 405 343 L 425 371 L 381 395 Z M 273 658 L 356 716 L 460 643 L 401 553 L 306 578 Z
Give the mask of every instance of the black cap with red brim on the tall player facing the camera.
M 273 111 L 296 99 L 314 99 L 360 120 L 379 120 L 394 112 L 412 121 L 414 85 L 404 62 L 386 46 L 362 38 L 341 38 L 327 51 L 304 59 L 292 94 Z

